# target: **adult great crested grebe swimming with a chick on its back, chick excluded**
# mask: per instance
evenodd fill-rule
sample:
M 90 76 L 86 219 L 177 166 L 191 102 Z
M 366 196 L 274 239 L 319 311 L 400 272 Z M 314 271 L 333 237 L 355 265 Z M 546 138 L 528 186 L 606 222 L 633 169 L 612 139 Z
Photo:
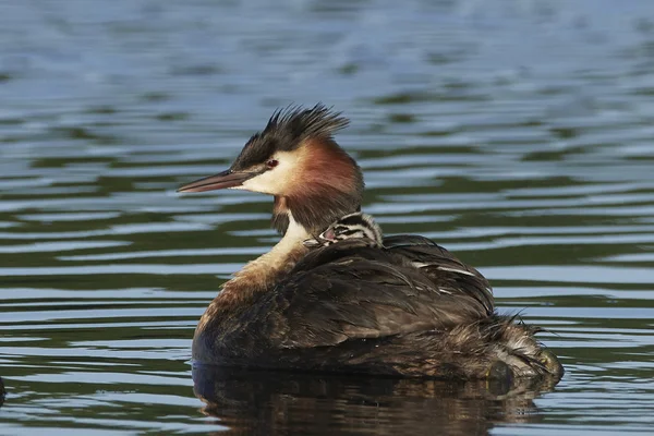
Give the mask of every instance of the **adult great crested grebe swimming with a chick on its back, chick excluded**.
M 348 120 L 316 105 L 277 111 L 232 166 L 179 189 L 275 196 L 270 252 L 228 280 L 193 338 L 198 364 L 371 375 L 560 377 L 537 328 L 494 311 L 488 281 L 419 235 L 304 241 L 360 210 L 363 175 L 332 134 Z

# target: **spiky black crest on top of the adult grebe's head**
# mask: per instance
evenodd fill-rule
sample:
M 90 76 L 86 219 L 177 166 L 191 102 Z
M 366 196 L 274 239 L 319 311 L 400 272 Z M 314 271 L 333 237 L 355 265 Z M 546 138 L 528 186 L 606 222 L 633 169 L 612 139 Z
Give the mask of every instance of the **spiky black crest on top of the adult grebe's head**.
M 278 109 L 266 128 L 254 134 L 234 160 L 232 170 L 265 162 L 275 152 L 292 152 L 310 137 L 330 138 L 350 121 L 331 108 L 317 104 L 311 109 L 289 106 Z

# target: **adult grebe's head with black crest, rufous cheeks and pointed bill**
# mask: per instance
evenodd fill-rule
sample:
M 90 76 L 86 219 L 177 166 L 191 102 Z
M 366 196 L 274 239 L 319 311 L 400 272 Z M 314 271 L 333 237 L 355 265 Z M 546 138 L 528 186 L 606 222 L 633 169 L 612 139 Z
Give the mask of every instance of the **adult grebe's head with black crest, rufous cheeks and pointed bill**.
M 272 225 L 286 232 L 290 219 L 317 234 L 360 209 L 363 175 L 334 141 L 348 119 L 323 105 L 276 111 L 253 135 L 231 167 L 181 186 L 178 192 L 234 189 L 275 196 Z

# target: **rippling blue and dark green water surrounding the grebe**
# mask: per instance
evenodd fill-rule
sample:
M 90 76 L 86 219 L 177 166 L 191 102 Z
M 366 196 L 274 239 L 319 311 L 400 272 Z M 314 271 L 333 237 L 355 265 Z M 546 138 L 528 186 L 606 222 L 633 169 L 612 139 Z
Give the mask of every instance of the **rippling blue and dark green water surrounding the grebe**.
M 0 3 L 0 434 L 650 433 L 654 4 Z M 279 106 L 334 105 L 386 233 L 434 238 L 555 387 L 199 374 L 270 199 L 174 189 Z M 208 382 L 207 382 L 208 380 Z

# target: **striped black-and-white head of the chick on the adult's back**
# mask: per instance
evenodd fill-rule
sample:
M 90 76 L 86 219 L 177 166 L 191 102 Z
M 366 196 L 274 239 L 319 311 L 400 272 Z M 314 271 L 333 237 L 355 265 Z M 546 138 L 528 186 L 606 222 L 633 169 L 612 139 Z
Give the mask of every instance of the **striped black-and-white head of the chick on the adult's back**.
M 327 246 L 347 239 L 365 239 L 371 246 L 382 246 L 384 242 L 382 228 L 374 218 L 367 214 L 354 213 L 340 218 L 318 237 L 305 240 L 304 245 Z

